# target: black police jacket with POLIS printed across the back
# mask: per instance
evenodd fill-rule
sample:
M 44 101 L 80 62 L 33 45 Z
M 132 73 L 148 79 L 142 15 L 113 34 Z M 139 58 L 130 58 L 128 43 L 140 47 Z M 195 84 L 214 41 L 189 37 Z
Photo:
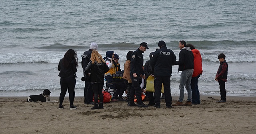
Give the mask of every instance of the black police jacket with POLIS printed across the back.
M 162 46 L 154 52 L 150 63 L 155 76 L 172 76 L 172 65 L 176 65 L 176 56 L 172 50 Z

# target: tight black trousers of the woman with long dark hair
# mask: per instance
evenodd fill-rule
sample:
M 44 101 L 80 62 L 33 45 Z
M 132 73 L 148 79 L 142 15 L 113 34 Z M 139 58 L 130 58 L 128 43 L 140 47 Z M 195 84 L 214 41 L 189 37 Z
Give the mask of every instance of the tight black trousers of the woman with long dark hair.
M 61 87 L 60 98 L 59 98 L 60 105 L 63 104 L 64 97 L 67 93 L 67 90 L 69 94 L 70 106 L 73 105 L 75 86 L 76 86 L 76 78 L 60 77 L 60 87 Z

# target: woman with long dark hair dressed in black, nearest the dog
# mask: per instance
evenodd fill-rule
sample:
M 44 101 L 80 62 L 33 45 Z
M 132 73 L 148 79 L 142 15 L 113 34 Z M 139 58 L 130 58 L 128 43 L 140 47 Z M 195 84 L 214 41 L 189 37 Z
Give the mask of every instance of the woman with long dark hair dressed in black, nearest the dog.
M 59 77 L 60 77 L 60 104 L 59 109 L 63 109 L 64 106 L 63 100 L 67 93 L 69 94 L 69 109 L 73 110 L 76 109 L 76 106 L 74 106 L 74 92 L 75 92 L 75 85 L 76 85 L 76 72 L 78 67 L 78 61 L 77 61 L 77 54 L 76 51 L 73 49 L 69 49 L 64 57 L 60 59 L 58 70 L 60 71 Z

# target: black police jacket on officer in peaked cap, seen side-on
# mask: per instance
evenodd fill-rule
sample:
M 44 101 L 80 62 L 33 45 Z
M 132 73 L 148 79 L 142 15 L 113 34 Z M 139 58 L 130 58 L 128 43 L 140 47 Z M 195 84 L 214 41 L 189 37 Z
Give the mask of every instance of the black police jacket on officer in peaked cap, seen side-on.
M 130 74 L 136 73 L 137 76 L 144 75 L 143 70 L 143 52 L 137 49 L 132 53 Z

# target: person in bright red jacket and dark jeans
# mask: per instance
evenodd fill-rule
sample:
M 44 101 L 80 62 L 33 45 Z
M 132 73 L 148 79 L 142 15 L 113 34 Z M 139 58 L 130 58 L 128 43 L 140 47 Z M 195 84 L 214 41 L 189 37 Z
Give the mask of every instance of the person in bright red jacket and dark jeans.
M 203 73 L 202 69 L 202 57 L 199 52 L 192 44 L 187 44 L 187 47 L 190 47 L 194 55 L 194 71 L 191 78 L 191 90 L 192 90 L 192 102 L 191 104 L 201 104 L 200 95 L 198 90 L 198 78 Z

